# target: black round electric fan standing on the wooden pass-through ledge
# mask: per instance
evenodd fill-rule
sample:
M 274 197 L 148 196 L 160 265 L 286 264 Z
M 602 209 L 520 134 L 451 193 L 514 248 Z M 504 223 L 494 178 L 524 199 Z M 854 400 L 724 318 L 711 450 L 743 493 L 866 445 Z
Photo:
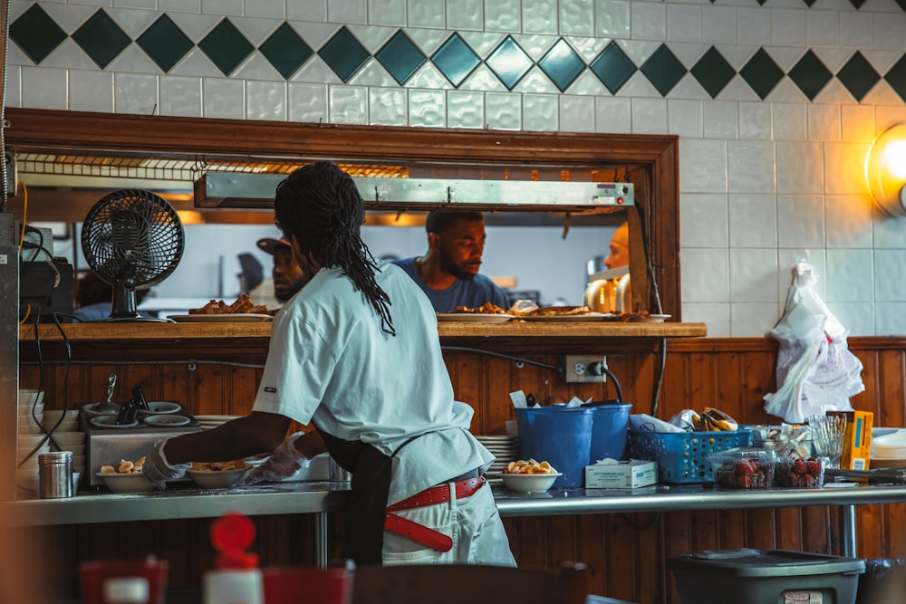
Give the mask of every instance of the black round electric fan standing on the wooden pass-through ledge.
M 82 223 L 82 253 L 113 287 L 110 317 L 101 321 L 169 321 L 140 316 L 135 291 L 166 279 L 184 246 L 176 210 L 150 191 L 113 191 L 92 206 Z

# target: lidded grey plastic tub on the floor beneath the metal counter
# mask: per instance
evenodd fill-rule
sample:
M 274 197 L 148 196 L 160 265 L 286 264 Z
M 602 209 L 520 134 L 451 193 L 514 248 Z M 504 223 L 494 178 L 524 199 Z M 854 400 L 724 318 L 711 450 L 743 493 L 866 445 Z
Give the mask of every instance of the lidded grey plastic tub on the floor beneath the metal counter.
M 682 604 L 821 602 L 854 604 L 861 558 L 805 551 L 691 551 L 667 568 Z

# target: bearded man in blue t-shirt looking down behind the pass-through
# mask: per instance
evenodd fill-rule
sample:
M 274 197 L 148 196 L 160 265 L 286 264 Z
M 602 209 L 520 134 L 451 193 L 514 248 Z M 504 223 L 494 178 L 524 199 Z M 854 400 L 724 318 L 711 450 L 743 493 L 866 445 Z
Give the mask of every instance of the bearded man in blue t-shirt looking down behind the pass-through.
M 478 273 L 485 251 L 485 217 L 480 212 L 436 211 L 425 222 L 428 252 L 394 260 L 423 292 L 436 312 L 487 302 L 508 308 L 506 293 Z

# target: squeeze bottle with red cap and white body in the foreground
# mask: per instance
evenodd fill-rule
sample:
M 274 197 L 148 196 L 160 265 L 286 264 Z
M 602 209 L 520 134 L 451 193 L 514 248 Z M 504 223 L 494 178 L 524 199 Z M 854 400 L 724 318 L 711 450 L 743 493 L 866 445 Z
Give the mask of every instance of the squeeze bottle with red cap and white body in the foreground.
M 258 556 L 246 548 L 255 541 L 255 524 L 244 514 L 227 512 L 211 524 L 211 544 L 220 552 L 217 568 L 205 573 L 204 604 L 263 604 Z

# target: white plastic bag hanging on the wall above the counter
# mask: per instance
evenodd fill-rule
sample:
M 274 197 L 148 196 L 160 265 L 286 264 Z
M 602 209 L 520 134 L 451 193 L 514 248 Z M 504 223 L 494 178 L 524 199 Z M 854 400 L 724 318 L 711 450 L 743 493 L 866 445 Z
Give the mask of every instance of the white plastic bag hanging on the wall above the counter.
M 780 341 L 777 391 L 765 395 L 765 410 L 793 424 L 826 411 L 852 411 L 850 397 L 865 389 L 862 361 L 849 350 L 846 330 L 814 283 L 812 265 L 797 260 L 786 312 L 771 330 Z

